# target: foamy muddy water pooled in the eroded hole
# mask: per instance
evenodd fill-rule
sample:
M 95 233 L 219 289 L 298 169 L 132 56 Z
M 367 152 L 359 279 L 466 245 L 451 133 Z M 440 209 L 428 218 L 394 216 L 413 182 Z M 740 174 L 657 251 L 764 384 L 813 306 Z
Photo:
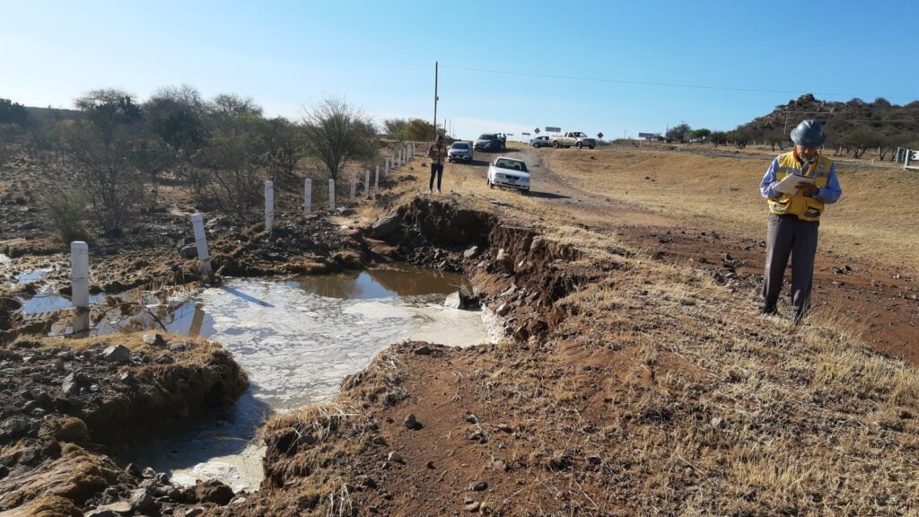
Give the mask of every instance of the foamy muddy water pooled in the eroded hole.
M 482 312 L 451 308 L 468 281 L 433 270 L 344 272 L 297 279 L 228 280 L 195 294 L 164 322 L 219 341 L 249 375 L 242 399 L 121 458 L 174 481 L 218 478 L 258 488 L 264 449 L 255 431 L 273 413 L 331 400 L 341 380 L 391 343 L 451 346 L 490 340 Z

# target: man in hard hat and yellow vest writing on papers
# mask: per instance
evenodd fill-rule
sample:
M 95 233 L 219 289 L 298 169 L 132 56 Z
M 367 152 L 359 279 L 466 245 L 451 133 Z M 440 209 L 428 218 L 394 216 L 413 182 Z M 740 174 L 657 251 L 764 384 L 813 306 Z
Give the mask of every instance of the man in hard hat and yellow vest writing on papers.
M 820 122 L 803 121 L 791 131 L 794 151 L 779 155 L 766 170 L 759 190 L 769 203 L 766 232 L 766 275 L 760 312 L 776 315 L 785 268 L 791 256 L 791 304 L 795 323 L 800 323 L 811 303 L 813 261 L 817 253 L 817 228 L 827 204 L 839 201 L 839 187 L 833 160 L 817 150 L 826 141 Z M 800 179 L 791 193 L 776 190 L 789 175 Z M 788 189 L 785 189 L 788 190 Z

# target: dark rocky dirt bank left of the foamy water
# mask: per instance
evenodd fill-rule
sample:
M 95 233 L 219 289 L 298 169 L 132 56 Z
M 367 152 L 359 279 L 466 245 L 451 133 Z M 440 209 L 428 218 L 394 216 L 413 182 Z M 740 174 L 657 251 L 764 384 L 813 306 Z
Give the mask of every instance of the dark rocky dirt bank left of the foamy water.
M 219 483 L 180 488 L 111 459 L 244 392 L 245 374 L 219 345 L 156 333 L 20 339 L 0 350 L 0 369 L 0 515 L 158 515 L 233 497 Z

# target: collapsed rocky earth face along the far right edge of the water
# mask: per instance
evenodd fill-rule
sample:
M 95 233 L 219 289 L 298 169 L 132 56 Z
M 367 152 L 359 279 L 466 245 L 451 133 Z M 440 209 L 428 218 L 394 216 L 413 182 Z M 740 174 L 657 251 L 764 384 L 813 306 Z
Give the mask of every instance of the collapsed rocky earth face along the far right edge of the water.
M 518 341 L 550 332 L 568 314 L 557 302 L 598 274 L 576 264 L 582 253 L 573 246 L 448 201 L 417 197 L 368 236 L 390 246 L 386 259 L 464 271 L 482 303 L 504 318 L 505 335 Z

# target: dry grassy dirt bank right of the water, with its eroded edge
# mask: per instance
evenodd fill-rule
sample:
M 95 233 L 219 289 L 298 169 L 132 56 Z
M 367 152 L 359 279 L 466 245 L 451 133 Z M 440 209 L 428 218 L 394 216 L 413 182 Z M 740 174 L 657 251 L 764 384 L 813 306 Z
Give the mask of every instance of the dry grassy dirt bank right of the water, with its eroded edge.
M 509 339 L 384 350 L 334 403 L 269 422 L 262 489 L 215 513 L 916 510 L 919 375 L 845 329 L 750 316 L 709 271 L 462 201 L 416 198 L 373 233 L 466 270 Z

